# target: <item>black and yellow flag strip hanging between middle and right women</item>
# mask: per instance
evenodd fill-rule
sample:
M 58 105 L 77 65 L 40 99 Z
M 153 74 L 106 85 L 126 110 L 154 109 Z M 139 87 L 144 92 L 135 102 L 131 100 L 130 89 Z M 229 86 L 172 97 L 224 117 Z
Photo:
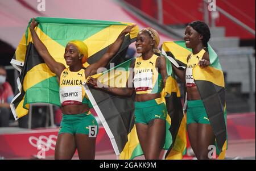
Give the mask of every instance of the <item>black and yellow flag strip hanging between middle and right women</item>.
M 163 50 L 162 52 L 166 56 L 166 69 L 169 76 L 166 86 L 162 91 L 162 97 L 165 98 L 167 111 L 171 118 L 171 127 L 169 127 L 168 131 L 172 136 L 172 144 L 166 153 L 166 156 L 171 154 L 171 157 L 165 157 L 165 159 L 182 159 L 187 145 L 185 136 L 186 121 L 183 115 L 179 86 L 175 79 L 175 74 L 172 72 L 171 61 L 169 60 L 170 57 Z

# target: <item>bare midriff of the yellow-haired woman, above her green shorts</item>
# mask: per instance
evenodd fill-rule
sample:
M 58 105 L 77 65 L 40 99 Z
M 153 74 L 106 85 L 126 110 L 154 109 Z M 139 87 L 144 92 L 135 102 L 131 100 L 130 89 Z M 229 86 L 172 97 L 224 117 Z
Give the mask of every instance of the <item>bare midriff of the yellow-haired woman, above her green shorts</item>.
M 61 106 L 61 112 L 66 115 L 82 114 L 89 111 L 89 109 L 87 104 Z

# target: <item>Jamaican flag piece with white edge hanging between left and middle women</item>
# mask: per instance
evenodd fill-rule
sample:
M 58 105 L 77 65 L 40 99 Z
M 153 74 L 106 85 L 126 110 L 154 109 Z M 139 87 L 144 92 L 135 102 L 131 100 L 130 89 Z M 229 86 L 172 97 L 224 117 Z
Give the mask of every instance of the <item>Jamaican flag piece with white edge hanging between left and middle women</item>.
M 108 87 L 126 87 L 133 59 L 115 63 L 105 72 L 92 76 Z M 104 126 L 119 159 L 143 155 L 134 122 L 134 97 L 105 93 L 85 86 L 86 94 Z

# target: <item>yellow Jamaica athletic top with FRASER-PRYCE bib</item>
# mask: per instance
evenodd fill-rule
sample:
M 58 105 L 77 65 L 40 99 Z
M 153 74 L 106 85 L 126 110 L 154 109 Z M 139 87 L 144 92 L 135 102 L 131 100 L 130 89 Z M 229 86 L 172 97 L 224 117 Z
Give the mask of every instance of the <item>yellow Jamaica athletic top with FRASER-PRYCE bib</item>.
M 60 74 L 61 106 L 89 104 L 83 86 L 86 82 L 84 70 L 82 68 L 78 72 L 71 72 L 66 68 Z

